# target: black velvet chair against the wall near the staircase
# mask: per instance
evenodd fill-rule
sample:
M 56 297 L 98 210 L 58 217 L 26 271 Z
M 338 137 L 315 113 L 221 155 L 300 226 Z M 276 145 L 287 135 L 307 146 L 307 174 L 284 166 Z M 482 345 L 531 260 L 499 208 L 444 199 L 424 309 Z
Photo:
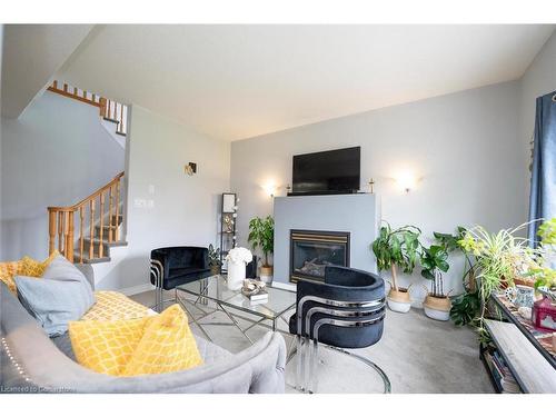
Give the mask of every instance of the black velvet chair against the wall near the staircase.
M 156 309 L 163 308 L 162 290 L 210 277 L 208 248 L 177 246 L 150 252 L 150 282 L 157 287 Z

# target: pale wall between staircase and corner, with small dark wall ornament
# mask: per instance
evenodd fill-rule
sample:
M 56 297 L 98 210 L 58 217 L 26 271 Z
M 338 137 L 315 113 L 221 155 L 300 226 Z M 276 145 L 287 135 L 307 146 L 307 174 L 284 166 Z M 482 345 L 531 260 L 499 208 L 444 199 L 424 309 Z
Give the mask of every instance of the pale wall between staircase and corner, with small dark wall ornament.
M 109 271 L 96 274 L 97 288 L 147 285 L 150 251 L 157 247 L 217 242 L 220 193 L 229 190 L 229 143 L 139 106 L 131 108 L 128 138 L 129 246 L 123 259 L 108 265 Z M 196 175 L 183 172 L 188 162 L 197 162 Z M 137 200 L 151 200 L 152 207 L 136 207 Z

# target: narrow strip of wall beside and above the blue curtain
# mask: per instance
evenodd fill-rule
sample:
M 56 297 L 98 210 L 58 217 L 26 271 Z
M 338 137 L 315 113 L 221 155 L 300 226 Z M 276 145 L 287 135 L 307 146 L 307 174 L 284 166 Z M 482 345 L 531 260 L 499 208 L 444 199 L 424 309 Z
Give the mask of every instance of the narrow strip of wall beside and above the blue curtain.
M 536 98 L 556 90 L 556 32 L 546 41 L 520 80 L 519 139 L 523 145 L 525 198 L 529 198 L 530 140 L 535 129 Z

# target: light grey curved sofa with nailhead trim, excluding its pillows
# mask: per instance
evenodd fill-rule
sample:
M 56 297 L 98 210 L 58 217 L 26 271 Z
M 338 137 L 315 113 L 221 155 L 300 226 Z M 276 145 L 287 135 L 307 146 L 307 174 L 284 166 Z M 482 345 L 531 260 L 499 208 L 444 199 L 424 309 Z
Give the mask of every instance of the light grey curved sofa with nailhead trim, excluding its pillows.
M 86 269 L 83 269 L 86 268 Z M 92 284 L 90 266 L 83 266 Z M 202 366 L 170 374 L 112 377 L 72 360 L 68 335 L 50 339 L 0 282 L 2 393 L 284 393 L 286 345 L 269 331 L 246 350 L 229 351 L 196 336 Z

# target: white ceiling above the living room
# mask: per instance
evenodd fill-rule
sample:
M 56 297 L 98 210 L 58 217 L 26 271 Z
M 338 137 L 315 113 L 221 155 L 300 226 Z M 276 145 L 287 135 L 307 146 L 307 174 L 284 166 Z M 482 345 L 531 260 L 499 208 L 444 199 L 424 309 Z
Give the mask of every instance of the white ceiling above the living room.
M 526 24 L 103 26 L 61 77 L 236 140 L 517 79 L 553 31 Z

